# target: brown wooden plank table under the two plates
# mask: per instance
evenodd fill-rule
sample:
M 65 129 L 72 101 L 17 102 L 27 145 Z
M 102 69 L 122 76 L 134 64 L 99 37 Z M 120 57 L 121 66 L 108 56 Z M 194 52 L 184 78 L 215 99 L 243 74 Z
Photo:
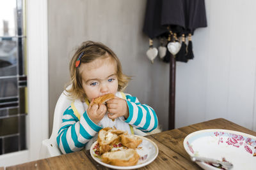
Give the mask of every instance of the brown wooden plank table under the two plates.
M 256 136 L 256 132 L 250 131 L 245 127 L 234 124 L 223 118 L 217 118 L 193 124 L 171 131 L 146 136 L 156 143 L 159 148 L 159 154 L 151 164 L 140 169 L 201 169 L 195 162 L 192 162 L 188 153 L 184 150 L 184 138 L 191 132 L 203 129 L 228 129 L 244 132 Z M 80 151 L 68 153 L 58 157 L 36 160 L 17 166 L 6 167 L 6 169 L 109 169 L 95 162 L 90 152 Z

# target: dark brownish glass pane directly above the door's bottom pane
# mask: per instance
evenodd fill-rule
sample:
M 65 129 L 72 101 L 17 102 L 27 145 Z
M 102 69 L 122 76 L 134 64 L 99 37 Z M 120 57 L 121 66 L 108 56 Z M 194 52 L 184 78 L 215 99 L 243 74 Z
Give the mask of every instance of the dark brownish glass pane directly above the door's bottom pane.
M 18 117 L 0 118 L 0 136 L 17 134 L 18 128 Z

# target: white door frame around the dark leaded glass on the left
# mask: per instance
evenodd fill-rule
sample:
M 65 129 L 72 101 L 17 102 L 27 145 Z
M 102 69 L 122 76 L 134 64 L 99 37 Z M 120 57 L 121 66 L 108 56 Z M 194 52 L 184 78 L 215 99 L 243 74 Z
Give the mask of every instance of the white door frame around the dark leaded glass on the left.
M 28 150 L 0 156 L 0 166 L 39 159 L 43 139 L 49 138 L 47 0 L 26 0 L 26 64 L 28 76 Z

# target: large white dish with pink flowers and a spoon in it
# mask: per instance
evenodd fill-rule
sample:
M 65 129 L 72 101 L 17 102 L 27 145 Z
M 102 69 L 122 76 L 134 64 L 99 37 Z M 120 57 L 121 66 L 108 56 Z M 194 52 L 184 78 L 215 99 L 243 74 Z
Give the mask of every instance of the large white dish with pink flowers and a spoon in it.
M 231 162 L 233 169 L 256 169 L 256 137 L 243 132 L 225 129 L 196 131 L 184 139 L 190 156 L 202 156 Z M 196 162 L 204 169 L 218 169 L 204 162 Z M 232 169 L 232 170 L 233 170 Z

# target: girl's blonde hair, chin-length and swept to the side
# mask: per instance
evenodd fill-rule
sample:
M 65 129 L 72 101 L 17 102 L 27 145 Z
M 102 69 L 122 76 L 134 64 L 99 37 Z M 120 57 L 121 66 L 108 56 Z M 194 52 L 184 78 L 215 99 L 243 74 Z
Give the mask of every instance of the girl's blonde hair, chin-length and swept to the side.
M 116 57 L 116 54 L 110 48 L 108 48 L 108 46 L 103 45 L 102 43 L 85 41 L 81 44 L 81 46 L 79 46 L 79 48 L 77 48 L 69 64 L 72 87 L 71 89 L 67 90 L 67 92 L 73 99 L 83 100 L 86 97 L 83 90 L 83 83 L 79 71 L 79 66 L 76 67 L 76 61 L 81 53 L 83 53 L 80 59 L 81 63 L 89 63 L 102 57 L 111 57 L 111 59 L 115 60 L 116 62 L 118 91 L 123 91 L 125 87 L 127 87 L 131 77 L 122 73 L 121 62 L 118 57 Z

